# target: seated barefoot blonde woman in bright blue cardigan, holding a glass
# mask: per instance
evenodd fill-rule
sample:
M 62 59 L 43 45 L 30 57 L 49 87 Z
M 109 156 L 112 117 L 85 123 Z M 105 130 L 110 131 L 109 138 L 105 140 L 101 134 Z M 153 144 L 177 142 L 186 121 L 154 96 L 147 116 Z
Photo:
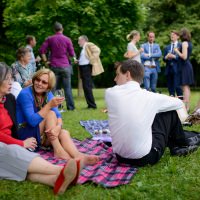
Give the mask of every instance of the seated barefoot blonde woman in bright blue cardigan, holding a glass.
M 35 137 L 38 146 L 52 145 L 56 157 L 78 158 L 85 164 L 95 164 L 98 156 L 80 153 L 69 132 L 62 128 L 57 106 L 64 97 L 53 96 L 51 90 L 55 82 L 53 71 L 41 69 L 34 74 L 33 85 L 22 89 L 17 98 L 18 137 L 22 140 Z

